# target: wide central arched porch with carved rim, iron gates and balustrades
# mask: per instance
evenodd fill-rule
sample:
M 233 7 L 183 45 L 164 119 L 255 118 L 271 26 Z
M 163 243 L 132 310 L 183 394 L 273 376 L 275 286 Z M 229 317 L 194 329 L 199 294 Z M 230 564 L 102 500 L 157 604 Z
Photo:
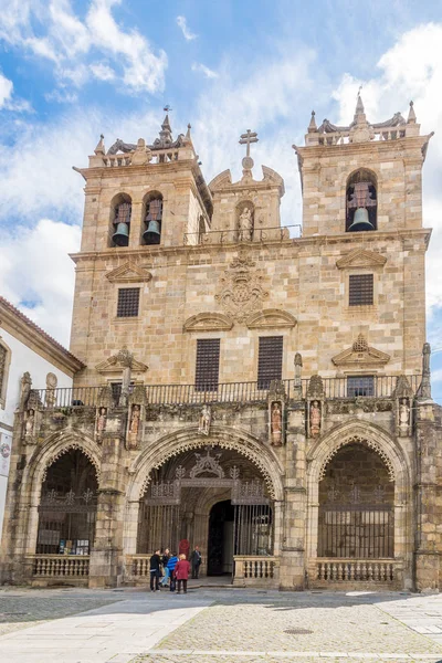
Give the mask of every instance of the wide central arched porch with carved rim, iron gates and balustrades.
M 160 464 L 151 449 L 134 464 L 125 525 L 126 581 L 143 581 L 154 549 L 186 552 L 198 545 L 202 575 L 235 571 L 235 581 L 240 577 L 245 583 L 253 576 L 255 582 L 276 585 L 282 530 L 278 461 L 253 438 L 228 435 L 225 429 L 221 435 L 213 429 L 209 439 L 186 431 L 164 441 L 158 445 Z M 223 503 L 229 515 L 214 532 L 211 512 Z

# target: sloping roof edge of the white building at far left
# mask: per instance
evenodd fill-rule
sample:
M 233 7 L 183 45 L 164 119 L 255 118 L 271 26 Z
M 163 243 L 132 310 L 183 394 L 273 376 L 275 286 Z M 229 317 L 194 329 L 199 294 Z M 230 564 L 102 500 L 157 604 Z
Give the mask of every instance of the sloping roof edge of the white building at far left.
M 11 334 L 41 357 L 44 357 L 67 376 L 72 377 L 78 370 L 85 368 L 80 359 L 3 297 L 0 297 L 0 328 Z

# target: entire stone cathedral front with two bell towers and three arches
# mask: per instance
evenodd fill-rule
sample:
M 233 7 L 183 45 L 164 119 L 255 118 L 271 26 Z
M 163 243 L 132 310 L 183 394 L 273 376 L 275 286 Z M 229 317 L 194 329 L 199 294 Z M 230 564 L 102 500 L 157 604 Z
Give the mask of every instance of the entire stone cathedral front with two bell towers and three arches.
M 3 581 L 143 583 L 156 548 L 199 545 L 236 586 L 439 588 L 430 138 L 412 104 L 372 124 L 358 97 L 346 127 L 313 114 L 302 229 L 281 224 L 281 176 L 255 179 L 251 130 L 242 178 L 209 185 L 167 116 L 150 145 L 101 138 L 76 169 L 84 368 L 22 394 Z

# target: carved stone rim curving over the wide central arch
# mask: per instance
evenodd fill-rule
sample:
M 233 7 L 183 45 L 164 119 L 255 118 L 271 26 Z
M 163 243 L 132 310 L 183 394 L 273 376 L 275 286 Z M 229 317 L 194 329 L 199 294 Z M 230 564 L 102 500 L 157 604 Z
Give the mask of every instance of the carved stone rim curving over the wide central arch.
M 150 473 L 159 469 L 172 456 L 185 451 L 202 446 L 220 446 L 232 449 L 249 459 L 262 473 L 270 496 L 275 501 L 284 498 L 282 484 L 283 467 L 273 450 L 245 432 L 232 428 L 211 427 L 210 435 L 198 434 L 198 428 L 191 427 L 159 438 L 151 446 L 145 449 L 134 461 L 127 488 L 127 499 L 138 502 L 150 482 Z

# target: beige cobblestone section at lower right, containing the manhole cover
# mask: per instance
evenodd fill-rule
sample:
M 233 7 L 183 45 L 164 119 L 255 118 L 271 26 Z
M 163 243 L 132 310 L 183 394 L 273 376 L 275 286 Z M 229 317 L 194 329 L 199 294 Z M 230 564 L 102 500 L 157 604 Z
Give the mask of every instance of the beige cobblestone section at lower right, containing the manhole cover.
M 269 594 L 249 592 L 244 600 L 236 593 L 217 601 L 134 663 L 442 660 L 439 597 Z M 429 612 L 440 628 L 428 625 Z

